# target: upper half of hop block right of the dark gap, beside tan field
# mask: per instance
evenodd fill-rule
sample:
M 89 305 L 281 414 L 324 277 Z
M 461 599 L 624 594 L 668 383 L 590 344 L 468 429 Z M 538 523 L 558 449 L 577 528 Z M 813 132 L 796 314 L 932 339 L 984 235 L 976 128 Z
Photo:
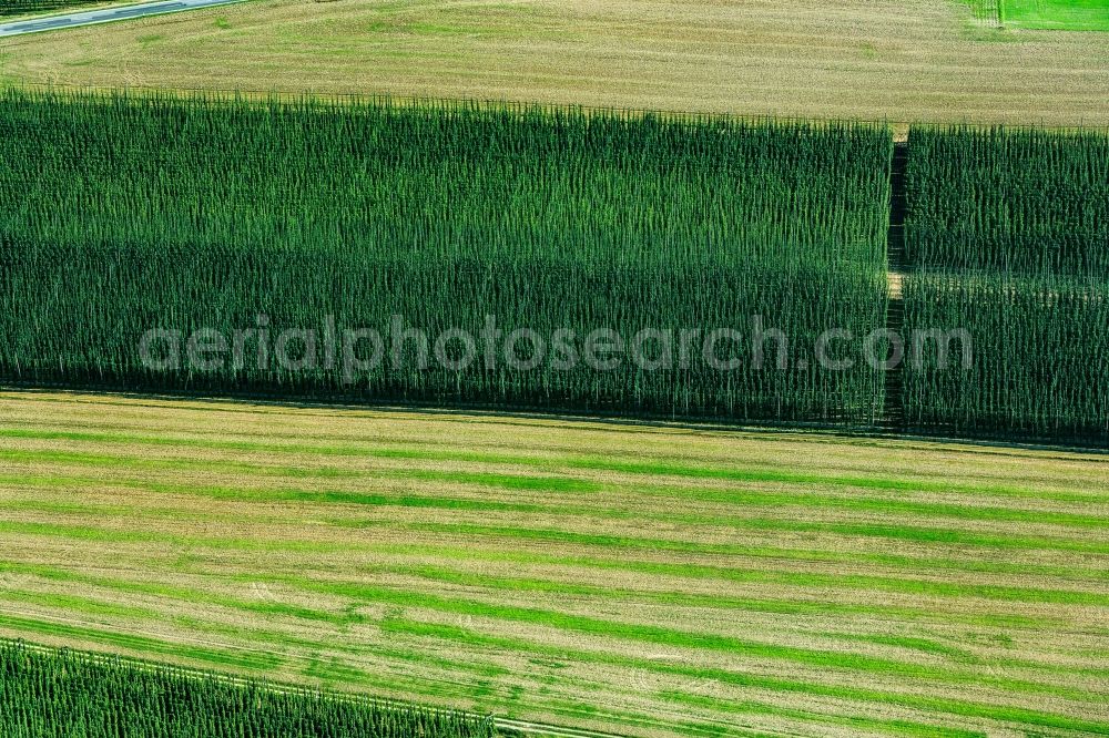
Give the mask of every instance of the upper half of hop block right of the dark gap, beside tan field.
M 920 269 L 1109 277 L 1109 136 L 912 131 L 906 256 Z

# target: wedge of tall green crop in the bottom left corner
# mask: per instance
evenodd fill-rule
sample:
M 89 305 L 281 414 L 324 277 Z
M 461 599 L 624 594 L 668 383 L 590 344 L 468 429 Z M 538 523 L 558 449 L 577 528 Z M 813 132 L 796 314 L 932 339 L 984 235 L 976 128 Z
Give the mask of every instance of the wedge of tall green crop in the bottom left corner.
M 489 721 L 0 642 L 0 735 L 492 738 Z

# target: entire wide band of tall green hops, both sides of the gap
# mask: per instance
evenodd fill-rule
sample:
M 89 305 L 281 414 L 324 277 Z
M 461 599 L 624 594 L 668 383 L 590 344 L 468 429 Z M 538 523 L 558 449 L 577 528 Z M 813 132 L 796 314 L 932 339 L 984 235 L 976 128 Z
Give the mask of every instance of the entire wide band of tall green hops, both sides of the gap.
M 888 126 L 17 91 L 0 113 L 10 382 L 1109 442 L 1103 132 L 914 126 L 891 262 Z M 522 361 L 490 325 L 536 337 Z M 814 360 L 887 326 L 966 338 L 897 381 L 858 346 Z M 658 340 L 601 368 L 598 328 Z M 679 357 L 691 329 L 737 331 L 735 363 Z M 176 336 L 153 362 L 151 330 Z M 362 330 L 376 350 L 321 348 Z M 469 349 L 433 360 L 452 332 Z M 197 361 L 204 335 L 237 353 Z

